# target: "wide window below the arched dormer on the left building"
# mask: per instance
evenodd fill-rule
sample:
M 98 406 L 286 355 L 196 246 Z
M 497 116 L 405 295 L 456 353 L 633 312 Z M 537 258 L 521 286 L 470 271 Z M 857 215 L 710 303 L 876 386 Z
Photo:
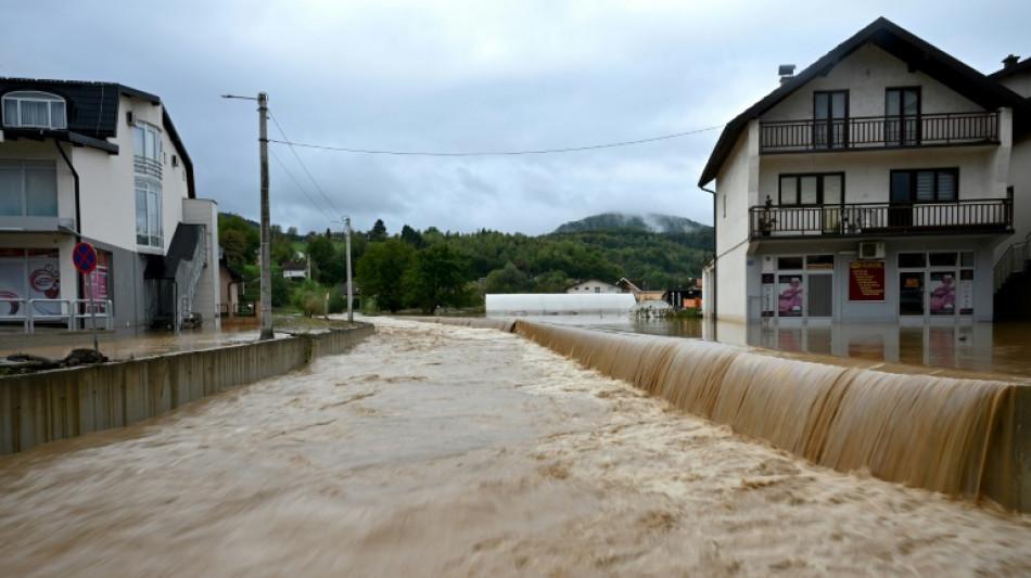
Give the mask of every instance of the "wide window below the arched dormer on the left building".
M 0 216 L 56 217 L 56 165 L 47 160 L 0 160 Z

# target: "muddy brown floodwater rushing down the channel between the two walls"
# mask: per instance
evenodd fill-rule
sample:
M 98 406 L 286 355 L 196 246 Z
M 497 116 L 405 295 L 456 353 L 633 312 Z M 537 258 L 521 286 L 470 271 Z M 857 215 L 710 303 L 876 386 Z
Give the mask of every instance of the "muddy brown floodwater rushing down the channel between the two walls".
M 1031 517 L 839 474 L 493 330 L 0 457 L 4 576 L 1029 576 Z

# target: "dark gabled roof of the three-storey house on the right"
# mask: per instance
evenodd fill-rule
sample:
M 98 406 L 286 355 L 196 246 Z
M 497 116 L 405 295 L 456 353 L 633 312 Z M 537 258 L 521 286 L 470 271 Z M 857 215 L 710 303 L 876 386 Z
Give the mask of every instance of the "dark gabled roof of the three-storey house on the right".
M 805 86 L 805 84 L 814 77 L 827 74 L 841 60 L 868 43 L 880 47 L 895 57 L 906 62 L 913 69 L 919 69 L 928 76 L 938 79 L 943 85 L 987 110 L 994 110 L 1002 106 L 1013 107 L 1015 132 L 1020 133 L 1031 128 L 1031 106 L 1028 106 L 1019 94 L 998 85 L 983 74 L 950 56 L 920 38 L 917 38 L 888 18 L 881 17 L 870 23 L 852 38 L 839 44 L 810 67 L 799 73 L 798 76 L 782 84 L 763 100 L 756 102 L 728 123 L 727 126 L 724 127 L 723 133 L 720 134 L 720 140 L 716 142 L 716 146 L 709 157 L 709 163 L 702 170 L 698 185 L 704 187 L 716 178 L 720 167 L 726 162 L 727 155 L 730 154 L 730 150 L 741 136 L 749 120 L 761 117 Z

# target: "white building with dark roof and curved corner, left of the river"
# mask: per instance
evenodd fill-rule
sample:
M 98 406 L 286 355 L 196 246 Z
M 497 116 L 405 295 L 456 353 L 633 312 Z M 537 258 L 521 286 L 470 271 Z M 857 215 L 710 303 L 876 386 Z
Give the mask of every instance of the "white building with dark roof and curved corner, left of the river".
M 218 321 L 218 220 L 156 95 L 0 78 L 0 323 Z M 84 280 L 72 249 L 92 244 Z M 89 291 L 92 294 L 89 294 Z

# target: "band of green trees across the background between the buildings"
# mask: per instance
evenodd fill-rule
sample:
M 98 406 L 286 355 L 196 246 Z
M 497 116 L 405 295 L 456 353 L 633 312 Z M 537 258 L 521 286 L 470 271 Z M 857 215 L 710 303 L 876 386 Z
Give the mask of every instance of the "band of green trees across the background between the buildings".
M 256 223 L 220 215 L 219 227 L 229 266 L 256 278 Z M 293 298 L 293 305 L 309 310 L 315 297 L 321 304 L 330 293 L 343 307 L 343 233 L 327 229 L 302 236 L 296 229 L 278 226 L 271 232 L 272 305 L 281 307 Z M 471 306 L 482 303 L 485 293 L 558 293 L 584 279 L 627 278 L 646 285 L 642 288 L 669 288 L 697 277 L 711 252 L 709 228 L 692 233 L 614 229 L 527 236 L 488 230 L 457 234 L 432 227 L 418 231 L 406 224 L 391 235 L 378 220 L 368 232 L 352 232 L 355 282 L 364 303 L 392 312 Z M 281 267 L 301 254 L 310 259 L 313 280 L 291 285 L 282 279 Z

